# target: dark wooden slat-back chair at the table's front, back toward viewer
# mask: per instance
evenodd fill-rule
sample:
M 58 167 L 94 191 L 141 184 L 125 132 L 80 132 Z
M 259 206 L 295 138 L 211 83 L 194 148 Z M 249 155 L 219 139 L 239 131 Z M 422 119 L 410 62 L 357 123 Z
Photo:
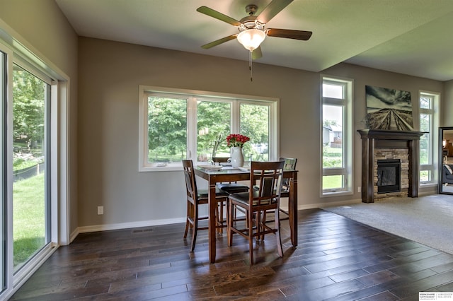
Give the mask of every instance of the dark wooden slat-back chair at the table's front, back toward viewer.
M 282 240 L 280 237 L 279 215 L 275 215 L 275 227 L 266 225 L 265 216 L 268 211 L 278 212 L 280 208 L 280 194 L 282 191 L 284 161 L 279 162 L 251 162 L 250 184 L 256 189 L 248 192 L 229 195 L 228 216 L 228 245 L 233 244 L 233 235 L 239 234 L 248 239 L 250 265 L 253 265 L 253 238 L 257 241 L 264 235 L 274 233 L 277 237 L 277 252 L 283 256 Z M 235 208 L 246 212 L 246 223 L 238 222 L 233 218 Z

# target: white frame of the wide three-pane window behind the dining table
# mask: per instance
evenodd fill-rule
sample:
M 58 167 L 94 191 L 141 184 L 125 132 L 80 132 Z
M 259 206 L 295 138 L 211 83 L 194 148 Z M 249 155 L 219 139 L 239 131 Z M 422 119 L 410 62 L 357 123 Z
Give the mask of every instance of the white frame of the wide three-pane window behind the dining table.
M 216 93 L 202 90 L 163 88 L 150 85 L 139 85 L 139 172 L 162 172 L 182 170 L 181 163 L 162 167 L 148 163 L 148 95 L 165 95 L 166 97 L 186 98 L 187 110 L 187 150 L 186 158 L 197 164 L 197 100 L 231 102 L 231 133 L 239 133 L 239 107 L 241 104 L 267 105 L 269 107 L 269 160 L 277 160 L 279 154 L 279 98 L 268 98 L 232 93 Z

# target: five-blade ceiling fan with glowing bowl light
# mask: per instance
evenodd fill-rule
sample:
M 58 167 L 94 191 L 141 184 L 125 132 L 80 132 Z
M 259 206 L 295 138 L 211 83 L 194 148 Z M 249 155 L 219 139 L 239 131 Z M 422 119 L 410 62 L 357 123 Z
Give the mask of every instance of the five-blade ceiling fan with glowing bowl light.
M 215 40 L 214 42 L 203 45 L 202 48 L 210 49 L 211 47 L 237 38 L 238 41 L 243 45 L 243 47 L 251 52 L 252 59 L 259 59 L 263 56 L 260 44 L 261 42 L 263 42 L 266 36 L 285 37 L 287 39 L 304 41 L 309 40 L 312 34 L 311 31 L 277 28 L 265 29 L 266 23 L 274 18 L 277 13 L 280 13 L 280 11 L 282 11 L 282 9 L 288 6 L 292 1 L 293 0 L 273 0 L 270 2 L 270 4 L 268 4 L 268 6 L 263 9 L 263 11 L 261 11 L 258 16 L 255 16 L 256 11 L 258 10 L 258 6 L 256 6 L 255 4 L 249 4 L 248 6 L 246 6 L 246 13 L 248 13 L 248 16 L 242 18 L 241 20 L 236 20 L 234 18 L 226 16 L 223 13 L 214 11 L 214 9 L 207 6 L 200 6 L 199 8 L 197 8 L 198 12 L 234 25 L 239 29 L 239 33 L 235 33 L 234 35 L 229 35 L 227 37 L 222 37 L 222 39 Z

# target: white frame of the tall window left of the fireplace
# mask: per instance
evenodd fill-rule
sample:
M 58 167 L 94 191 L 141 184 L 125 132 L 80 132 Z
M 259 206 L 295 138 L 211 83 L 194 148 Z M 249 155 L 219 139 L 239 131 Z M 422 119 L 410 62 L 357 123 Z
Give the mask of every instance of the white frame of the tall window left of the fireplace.
M 324 83 L 331 83 L 335 85 L 343 86 L 343 98 L 328 98 L 323 97 L 323 85 Z M 352 121 L 353 108 L 352 108 L 352 98 L 353 98 L 353 86 L 354 81 L 350 78 L 339 78 L 335 76 L 325 76 L 321 75 L 321 122 L 320 122 L 320 168 L 321 168 L 321 179 L 320 179 L 320 197 L 326 196 L 339 196 L 339 195 L 350 195 L 353 194 L 353 147 L 352 140 L 354 136 L 352 135 Z M 342 160 L 343 167 L 323 167 L 323 107 L 324 105 L 333 105 L 343 107 L 343 124 L 342 124 Z M 341 175 L 343 176 L 343 188 L 342 189 L 323 189 L 323 177 L 330 175 Z

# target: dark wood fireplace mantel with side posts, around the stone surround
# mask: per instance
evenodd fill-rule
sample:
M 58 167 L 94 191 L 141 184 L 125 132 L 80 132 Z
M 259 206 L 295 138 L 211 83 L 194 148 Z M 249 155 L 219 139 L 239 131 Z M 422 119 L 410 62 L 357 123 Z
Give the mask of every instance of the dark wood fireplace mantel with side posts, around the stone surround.
M 374 158 L 376 148 L 408 149 L 408 196 L 418 196 L 418 162 L 420 157 L 420 131 L 388 131 L 377 129 L 357 130 L 362 138 L 362 202 L 374 202 Z

